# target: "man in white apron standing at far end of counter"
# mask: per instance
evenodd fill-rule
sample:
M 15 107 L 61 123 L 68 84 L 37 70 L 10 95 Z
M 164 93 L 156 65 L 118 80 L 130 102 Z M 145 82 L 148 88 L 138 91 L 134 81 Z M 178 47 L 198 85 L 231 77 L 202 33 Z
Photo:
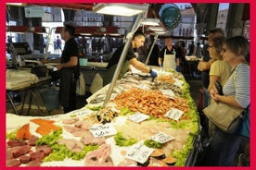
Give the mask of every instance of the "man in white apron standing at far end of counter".
M 173 38 L 165 39 L 165 47 L 160 51 L 159 64 L 164 70 L 176 70 L 180 66 L 180 59 L 173 47 Z

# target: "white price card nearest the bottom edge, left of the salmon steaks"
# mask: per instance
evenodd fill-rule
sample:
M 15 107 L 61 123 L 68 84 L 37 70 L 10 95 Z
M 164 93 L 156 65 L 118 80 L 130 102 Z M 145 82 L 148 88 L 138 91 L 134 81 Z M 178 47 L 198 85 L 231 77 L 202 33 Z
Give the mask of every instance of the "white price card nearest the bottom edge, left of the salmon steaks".
M 140 164 L 144 164 L 147 162 L 148 157 L 152 152 L 154 152 L 154 150 L 155 149 L 148 148 L 146 145 L 144 145 L 144 141 L 141 140 L 130 147 L 125 157 Z

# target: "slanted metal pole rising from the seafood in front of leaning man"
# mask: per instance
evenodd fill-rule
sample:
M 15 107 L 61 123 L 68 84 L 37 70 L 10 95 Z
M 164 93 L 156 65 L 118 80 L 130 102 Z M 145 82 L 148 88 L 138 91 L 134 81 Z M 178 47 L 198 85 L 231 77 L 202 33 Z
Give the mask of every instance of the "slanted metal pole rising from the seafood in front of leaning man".
M 129 32 L 127 34 L 127 39 L 128 41 L 125 43 L 124 47 L 123 47 L 123 50 L 122 50 L 122 54 L 121 54 L 121 57 L 119 59 L 119 62 L 118 62 L 118 65 L 117 65 L 117 68 L 115 70 L 115 73 L 114 73 L 114 76 L 110 82 L 110 85 L 109 85 L 109 90 L 106 94 L 106 98 L 104 100 L 104 103 L 103 103 L 103 107 L 105 107 L 105 105 L 109 102 L 109 99 L 110 99 L 110 95 L 116 85 L 116 81 L 119 77 L 119 74 L 121 72 L 121 68 L 122 68 L 122 65 L 124 63 L 124 60 L 125 60 L 125 57 L 127 55 L 127 52 L 128 52 L 128 49 L 131 45 L 131 42 L 132 42 L 132 39 L 133 39 L 133 36 L 134 36 L 134 32 L 135 30 L 138 29 L 139 25 L 140 25 L 140 22 L 141 22 L 141 19 L 142 19 L 143 15 L 142 14 L 139 14 L 136 16 L 135 20 L 134 20 L 134 25 L 133 25 L 133 28 L 131 30 L 131 32 Z

